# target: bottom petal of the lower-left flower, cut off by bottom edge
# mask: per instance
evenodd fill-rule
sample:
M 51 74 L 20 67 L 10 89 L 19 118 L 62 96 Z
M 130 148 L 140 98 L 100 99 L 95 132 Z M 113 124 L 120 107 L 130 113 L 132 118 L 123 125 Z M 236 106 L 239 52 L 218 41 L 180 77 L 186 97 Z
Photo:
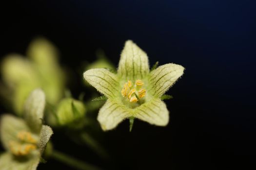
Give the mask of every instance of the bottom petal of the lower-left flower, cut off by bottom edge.
M 36 170 L 40 157 L 34 156 L 27 160 L 18 160 L 11 153 L 0 155 L 0 170 Z

